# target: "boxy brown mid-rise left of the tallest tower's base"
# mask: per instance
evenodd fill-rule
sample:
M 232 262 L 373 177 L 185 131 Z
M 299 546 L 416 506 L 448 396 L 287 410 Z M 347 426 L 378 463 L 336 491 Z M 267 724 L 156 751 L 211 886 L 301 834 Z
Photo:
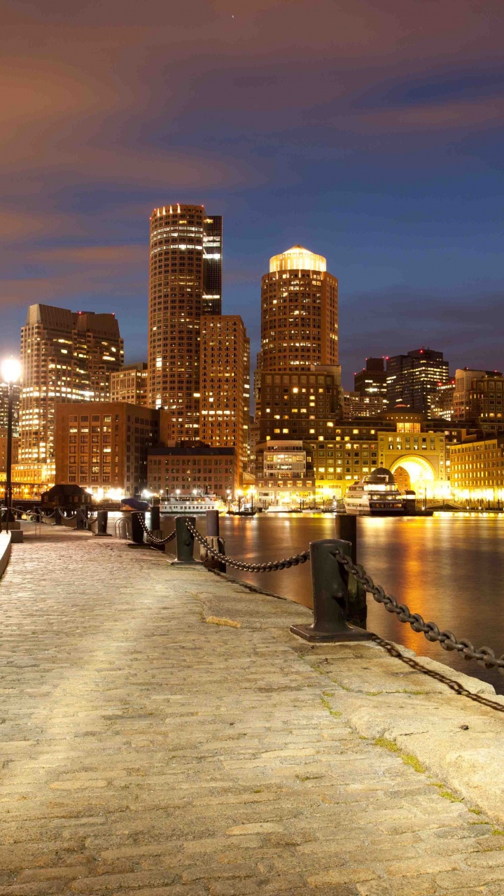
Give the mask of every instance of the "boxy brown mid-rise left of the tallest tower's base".
M 160 412 L 126 401 L 56 405 L 56 484 L 95 495 L 138 495 L 147 487 L 147 453 L 160 439 Z

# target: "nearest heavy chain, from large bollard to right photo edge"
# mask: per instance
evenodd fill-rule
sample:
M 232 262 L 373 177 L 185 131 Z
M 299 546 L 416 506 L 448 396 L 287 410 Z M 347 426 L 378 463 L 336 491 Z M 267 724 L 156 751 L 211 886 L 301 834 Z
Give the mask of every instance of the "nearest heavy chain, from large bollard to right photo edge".
M 504 654 L 497 658 L 491 647 L 481 647 L 477 650 L 474 645 L 461 638 L 456 639 L 453 632 L 445 629 L 440 632 L 438 626 L 434 622 L 424 622 L 420 613 L 412 613 L 406 604 L 398 604 L 396 599 L 390 594 L 386 594 L 381 585 L 375 585 L 369 573 L 366 573 L 361 564 L 353 564 L 352 560 L 337 547 L 334 549 L 334 556 L 338 563 L 342 564 L 348 573 L 359 582 L 363 588 L 377 601 L 378 604 L 384 604 L 388 613 L 395 613 L 400 622 L 407 622 L 413 628 L 413 632 L 421 632 L 428 641 L 437 641 L 443 650 L 457 650 L 465 659 L 476 659 L 479 666 L 484 668 L 498 668 L 500 675 L 504 676 Z

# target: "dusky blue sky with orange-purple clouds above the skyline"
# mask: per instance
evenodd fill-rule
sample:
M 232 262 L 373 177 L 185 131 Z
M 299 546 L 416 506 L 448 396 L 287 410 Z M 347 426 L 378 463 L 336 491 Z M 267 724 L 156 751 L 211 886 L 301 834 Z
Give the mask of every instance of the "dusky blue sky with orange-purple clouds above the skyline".
M 421 345 L 504 368 L 504 4 L 17 0 L 2 32 L 2 354 L 44 302 L 146 358 L 149 215 L 196 202 L 253 352 L 300 243 L 340 281 L 348 388 Z

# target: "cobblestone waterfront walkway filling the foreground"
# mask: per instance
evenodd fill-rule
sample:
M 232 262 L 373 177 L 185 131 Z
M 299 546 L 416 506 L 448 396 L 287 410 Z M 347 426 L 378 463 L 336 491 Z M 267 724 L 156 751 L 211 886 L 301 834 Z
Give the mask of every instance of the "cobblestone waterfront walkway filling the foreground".
M 504 892 L 504 831 L 345 720 L 387 675 L 429 699 L 376 644 L 310 650 L 304 607 L 50 528 L 13 547 L 0 614 L 0 896 Z

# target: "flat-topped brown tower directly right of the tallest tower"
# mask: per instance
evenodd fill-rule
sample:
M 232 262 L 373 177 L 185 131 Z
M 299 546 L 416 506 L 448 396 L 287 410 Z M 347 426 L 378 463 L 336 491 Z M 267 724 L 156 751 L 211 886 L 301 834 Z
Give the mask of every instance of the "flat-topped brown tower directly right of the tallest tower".
M 239 477 L 247 469 L 250 341 L 238 314 L 201 321 L 202 442 L 236 449 Z

